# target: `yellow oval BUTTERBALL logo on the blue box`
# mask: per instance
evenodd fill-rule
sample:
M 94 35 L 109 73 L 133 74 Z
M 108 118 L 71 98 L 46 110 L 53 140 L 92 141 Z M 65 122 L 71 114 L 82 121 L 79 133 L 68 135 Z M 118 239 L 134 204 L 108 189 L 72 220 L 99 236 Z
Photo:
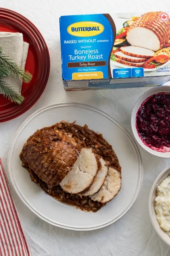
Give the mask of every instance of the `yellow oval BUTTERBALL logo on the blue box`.
M 104 26 L 95 21 L 76 22 L 67 28 L 67 32 L 74 36 L 86 37 L 101 34 L 104 31 Z

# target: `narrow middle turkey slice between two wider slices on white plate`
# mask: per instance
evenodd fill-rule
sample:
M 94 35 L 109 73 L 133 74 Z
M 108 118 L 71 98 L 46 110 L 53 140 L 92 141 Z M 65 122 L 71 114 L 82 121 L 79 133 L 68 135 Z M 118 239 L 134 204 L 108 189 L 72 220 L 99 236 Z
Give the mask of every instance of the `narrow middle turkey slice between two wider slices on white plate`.
M 94 193 L 98 192 L 99 189 L 101 189 L 101 186 L 105 182 L 106 176 L 108 173 L 108 167 L 102 157 L 99 159 L 99 161 L 101 163 L 101 167 L 99 168 L 99 171 L 94 178 L 94 182 L 92 183 L 90 188 L 85 193 L 83 193 L 81 195 L 84 195 L 84 196 L 93 195 Z

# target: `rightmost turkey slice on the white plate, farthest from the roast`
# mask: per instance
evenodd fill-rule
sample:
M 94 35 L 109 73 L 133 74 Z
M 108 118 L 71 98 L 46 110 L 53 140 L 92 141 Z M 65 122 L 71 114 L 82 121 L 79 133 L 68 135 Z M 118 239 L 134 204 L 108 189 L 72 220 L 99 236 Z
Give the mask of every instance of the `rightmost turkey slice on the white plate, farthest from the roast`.
M 121 175 L 114 168 L 109 168 L 106 181 L 101 189 L 94 195 L 90 195 L 93 201 L 102 203 L 109 202 L 121 189 Z

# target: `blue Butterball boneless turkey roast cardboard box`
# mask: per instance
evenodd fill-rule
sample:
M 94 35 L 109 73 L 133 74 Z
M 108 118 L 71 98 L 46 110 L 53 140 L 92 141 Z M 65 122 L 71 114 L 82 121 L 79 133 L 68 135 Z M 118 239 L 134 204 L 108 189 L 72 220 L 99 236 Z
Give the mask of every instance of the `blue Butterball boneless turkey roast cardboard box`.
M 170 12 L 60 17 L 66 90 L 159 86 L 170 80 Z

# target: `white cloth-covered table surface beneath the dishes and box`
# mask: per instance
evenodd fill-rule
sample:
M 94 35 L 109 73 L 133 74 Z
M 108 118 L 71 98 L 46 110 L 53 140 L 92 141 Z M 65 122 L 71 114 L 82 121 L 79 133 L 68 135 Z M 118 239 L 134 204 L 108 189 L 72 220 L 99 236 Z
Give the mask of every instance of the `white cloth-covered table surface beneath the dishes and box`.
M 86 103 L 112 115 L 132 133 L 132 108 L 147 88 L 65 92 L 61 76 L 59 17 L 86 13 L 170 11 L 170 0 L 1 0 L 0 7 L 23 14 L 38 27 L 49 47 L 51 63 L 49 81 L 38 102 L 18 118 L 0 123 L 0 157 L 6 173 L 13 135 L 29 115 L 46 105 L 59 102 Z M 27 209 L 12 189 L 32 255 L 170 256 L 170 247 L 157 236 L 148 213 L 152 183 L 170 165 L 170 160 L 139 149 L 144 166 L 139 197 L 126 216 L 104 229 L 79 232 L 53 227 Z

